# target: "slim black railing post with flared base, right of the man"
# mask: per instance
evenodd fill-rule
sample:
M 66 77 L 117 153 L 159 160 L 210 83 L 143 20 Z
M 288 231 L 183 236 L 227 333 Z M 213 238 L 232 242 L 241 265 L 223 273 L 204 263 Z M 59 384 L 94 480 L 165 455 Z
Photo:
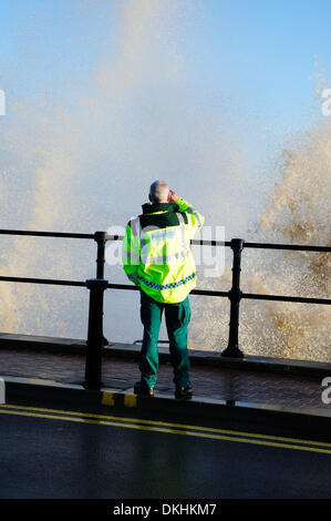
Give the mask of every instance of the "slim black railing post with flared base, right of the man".
M 238 331 L 239 331 L 239 303 L 241 298 L 240 290 L 240 272 L 241 272 L 241 252 L 244 248 L 242 238 L 231 239 L 231 249 L 234 252 L 232 260 L 232 287 L 229 292 L 230 299 L 230 323 L 229 323 L 229 340 L 227 348 L 221 356 L 229 358 L 242 358 L 244 353 L 239 349 Z

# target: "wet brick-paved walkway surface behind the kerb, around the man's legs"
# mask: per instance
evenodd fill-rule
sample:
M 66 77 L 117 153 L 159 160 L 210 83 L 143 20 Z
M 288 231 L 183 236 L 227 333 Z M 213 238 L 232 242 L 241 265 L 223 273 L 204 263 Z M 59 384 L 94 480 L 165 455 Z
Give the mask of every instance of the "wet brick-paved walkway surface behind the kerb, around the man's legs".
M 0 348 L 0 376 L 33 377 L 59 382 L 77 384 L 84 379 L 82 355 L 49 353 L 29 348 Z M 105 387 L 132 387 L 139 378 L 136 359 L 104 357 L 102 379 Z M 229 401 L 287 406 L 296 409 L 331 409 L 321 399 L 321 377 L 294 376 L 254 370 L 193 365 L 192 384 L 195 396 Z M 158 392 L 172 394 L 173 369 L 159 365 Z

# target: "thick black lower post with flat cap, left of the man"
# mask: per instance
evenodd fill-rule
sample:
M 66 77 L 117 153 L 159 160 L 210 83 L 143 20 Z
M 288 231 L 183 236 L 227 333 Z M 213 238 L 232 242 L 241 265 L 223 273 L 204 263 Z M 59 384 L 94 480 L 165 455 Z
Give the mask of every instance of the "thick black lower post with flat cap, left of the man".
M 107 280 L 91 278 L 86 280 L 86 286 L 90 289 L 90 306 L 84 386 L 99 389 L 102 386 L 103 294 L 107 287 Z

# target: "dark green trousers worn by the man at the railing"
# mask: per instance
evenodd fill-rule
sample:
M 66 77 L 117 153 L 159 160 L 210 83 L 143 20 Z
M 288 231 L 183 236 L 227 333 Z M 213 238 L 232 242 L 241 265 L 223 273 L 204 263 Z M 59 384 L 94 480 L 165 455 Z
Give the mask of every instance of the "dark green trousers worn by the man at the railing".
M 144 336 L 139 361 L 142 381 L 148 387 L 154 387 L 157 380 L 157 340 L 163 311 L 165 311 L 174 367 L 174 382 L 176 387 L 186 387 L 189 384 L 190 371 L 187 350 L 187 326 L 190 319 L 188 297 L 178 304 L 164 304 L 148 297 L 143 290 L 141 290 L 141 319 Z

